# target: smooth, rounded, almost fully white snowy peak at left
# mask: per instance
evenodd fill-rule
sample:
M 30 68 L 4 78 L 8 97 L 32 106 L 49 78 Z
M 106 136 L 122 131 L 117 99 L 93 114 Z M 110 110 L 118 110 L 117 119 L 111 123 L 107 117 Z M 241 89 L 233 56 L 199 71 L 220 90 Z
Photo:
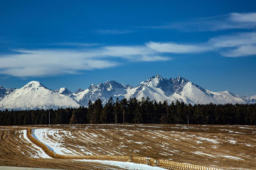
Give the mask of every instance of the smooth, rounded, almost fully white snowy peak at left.
M 79 106 L 71 97 L 47 89 L 38 81 L 29 82 L 0 101 L 1 109 L 13 110 L 56 109 Z

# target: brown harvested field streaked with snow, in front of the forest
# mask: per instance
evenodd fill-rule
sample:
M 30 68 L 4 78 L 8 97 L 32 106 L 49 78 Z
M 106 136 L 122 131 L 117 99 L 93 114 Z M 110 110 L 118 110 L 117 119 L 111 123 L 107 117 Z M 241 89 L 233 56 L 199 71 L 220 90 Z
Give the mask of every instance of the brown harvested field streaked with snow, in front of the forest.
M 35 137 L 62 155 L 129 155 L 220 169 L 256 169 L 256 127 L 239 125 L 37 125 Z M 29 141 L 27 126 L 3 126 L 0 166 L 148 169 L 97 160 L 52 159 Z M 156 169 L 160 169 L 156 167 Z

